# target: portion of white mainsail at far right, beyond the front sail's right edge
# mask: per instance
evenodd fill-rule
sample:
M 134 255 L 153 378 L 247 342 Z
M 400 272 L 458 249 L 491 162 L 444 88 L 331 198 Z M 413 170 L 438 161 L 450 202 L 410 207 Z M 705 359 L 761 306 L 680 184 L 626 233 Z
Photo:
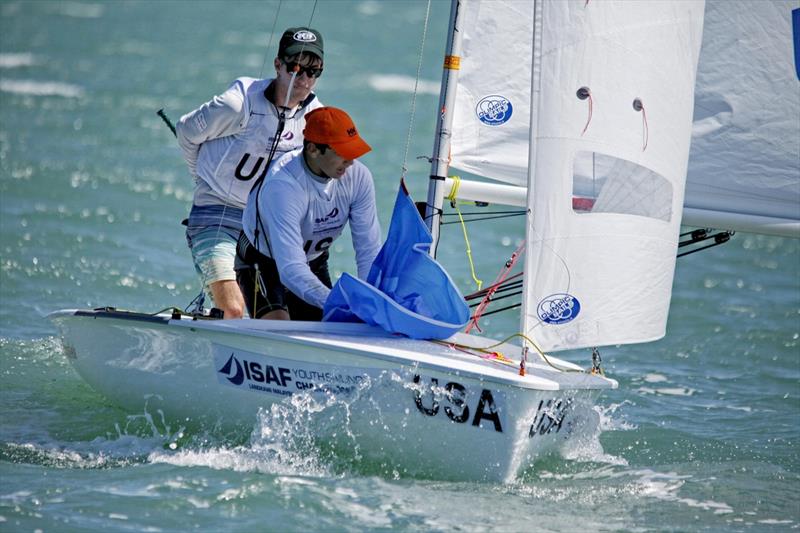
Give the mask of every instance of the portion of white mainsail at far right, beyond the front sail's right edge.
M 787 1 L 709 1 L 685 207 L 800 235 L 800 82 Z M 756 218 L 763 217 L 763 218 Z M 755 220 L 756 224 L 749 221 Z M 793 228 L 792 228 L 793 227 Z

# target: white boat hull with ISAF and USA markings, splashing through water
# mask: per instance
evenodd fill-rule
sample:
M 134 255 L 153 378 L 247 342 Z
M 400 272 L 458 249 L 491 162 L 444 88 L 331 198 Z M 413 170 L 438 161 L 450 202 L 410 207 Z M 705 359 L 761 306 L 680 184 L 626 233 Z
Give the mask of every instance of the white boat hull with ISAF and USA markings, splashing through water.
M 337 427 L 315 428 L 319 442 L 436 478 L 512 480 L 592 419 L 601 390 L 617 386 L 530 363 L 520 376 L 513 366 L 364 324 L 193 321 L 106 310 L 59 311 L 50 319 L 83 379 L 126 409 L 252 430 L 259 412 L 309 402 L 319 408 L 333 399 L 345 417 Z M 519 353 L 513 345 L 499 349 Z

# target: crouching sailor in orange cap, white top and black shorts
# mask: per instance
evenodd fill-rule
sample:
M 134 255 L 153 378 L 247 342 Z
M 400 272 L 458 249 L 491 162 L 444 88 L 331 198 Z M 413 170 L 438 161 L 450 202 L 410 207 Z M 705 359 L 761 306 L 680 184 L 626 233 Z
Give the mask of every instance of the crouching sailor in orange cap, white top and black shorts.
M 253 318 L 321 320 L 330 293 L 328 249 L 349 222 L 358 276 L 381 246 L 371 150 L 347 113 L 306 114 L 303 148 L 284 155 L 256 186 L 242 219 L 236 272 Z

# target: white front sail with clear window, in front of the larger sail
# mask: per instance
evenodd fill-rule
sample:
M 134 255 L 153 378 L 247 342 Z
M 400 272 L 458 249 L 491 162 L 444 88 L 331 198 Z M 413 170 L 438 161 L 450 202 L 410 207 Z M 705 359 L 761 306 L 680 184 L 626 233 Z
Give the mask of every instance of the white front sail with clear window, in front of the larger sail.
M 545 350 L 660 338 L 703 4 L 537 6 L 522 331 Z M 592 184 L 594 207 L 575 208 Z

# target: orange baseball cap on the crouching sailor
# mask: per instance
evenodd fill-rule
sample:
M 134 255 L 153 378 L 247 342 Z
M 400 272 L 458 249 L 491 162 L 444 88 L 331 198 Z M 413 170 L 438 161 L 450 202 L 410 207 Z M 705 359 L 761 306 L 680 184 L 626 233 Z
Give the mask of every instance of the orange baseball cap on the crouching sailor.
M 345 159 L 358 159 L 372 150 L 358 135 L 350 115 L 336 107 L 318 107 L 308 113 L 303 136 L 307 141 L 327 144 Z

